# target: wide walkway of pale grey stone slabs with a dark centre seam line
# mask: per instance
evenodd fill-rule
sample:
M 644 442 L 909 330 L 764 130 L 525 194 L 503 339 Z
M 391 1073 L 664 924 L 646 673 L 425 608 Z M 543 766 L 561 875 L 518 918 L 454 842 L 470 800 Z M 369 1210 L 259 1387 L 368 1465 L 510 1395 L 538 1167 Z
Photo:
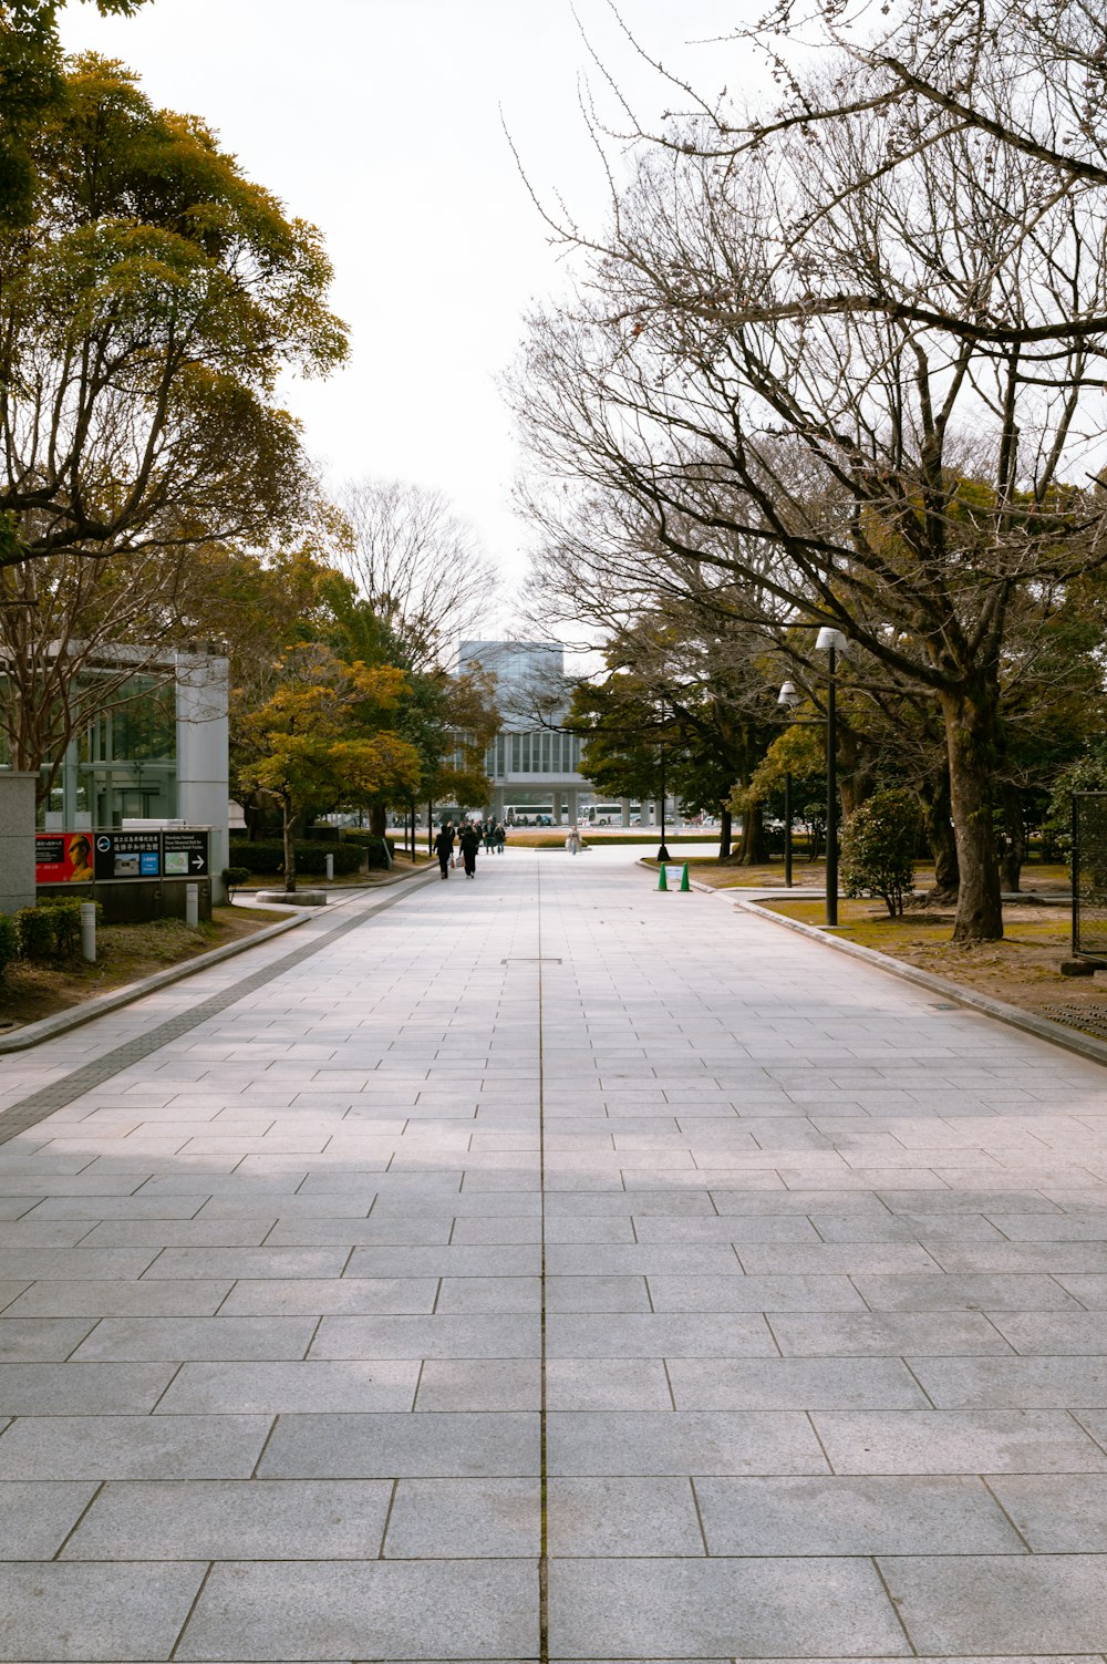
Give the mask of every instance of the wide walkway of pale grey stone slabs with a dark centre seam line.
M 0 1657 L 1099 1659 L 1107 1073 L 608 857 L 360 907 L 0 1060 Z

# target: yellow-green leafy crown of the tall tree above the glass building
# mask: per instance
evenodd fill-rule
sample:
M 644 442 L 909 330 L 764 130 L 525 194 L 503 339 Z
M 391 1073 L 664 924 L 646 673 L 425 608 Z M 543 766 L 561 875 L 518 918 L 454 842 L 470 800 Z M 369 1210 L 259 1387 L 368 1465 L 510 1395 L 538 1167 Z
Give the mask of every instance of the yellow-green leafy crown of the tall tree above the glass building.
M 5 559 L 301 526 L 315 484 L 276 381 L 345 354 L 318 231 L 95 57 L 27 145 L 33 213 L 0 230 Z

